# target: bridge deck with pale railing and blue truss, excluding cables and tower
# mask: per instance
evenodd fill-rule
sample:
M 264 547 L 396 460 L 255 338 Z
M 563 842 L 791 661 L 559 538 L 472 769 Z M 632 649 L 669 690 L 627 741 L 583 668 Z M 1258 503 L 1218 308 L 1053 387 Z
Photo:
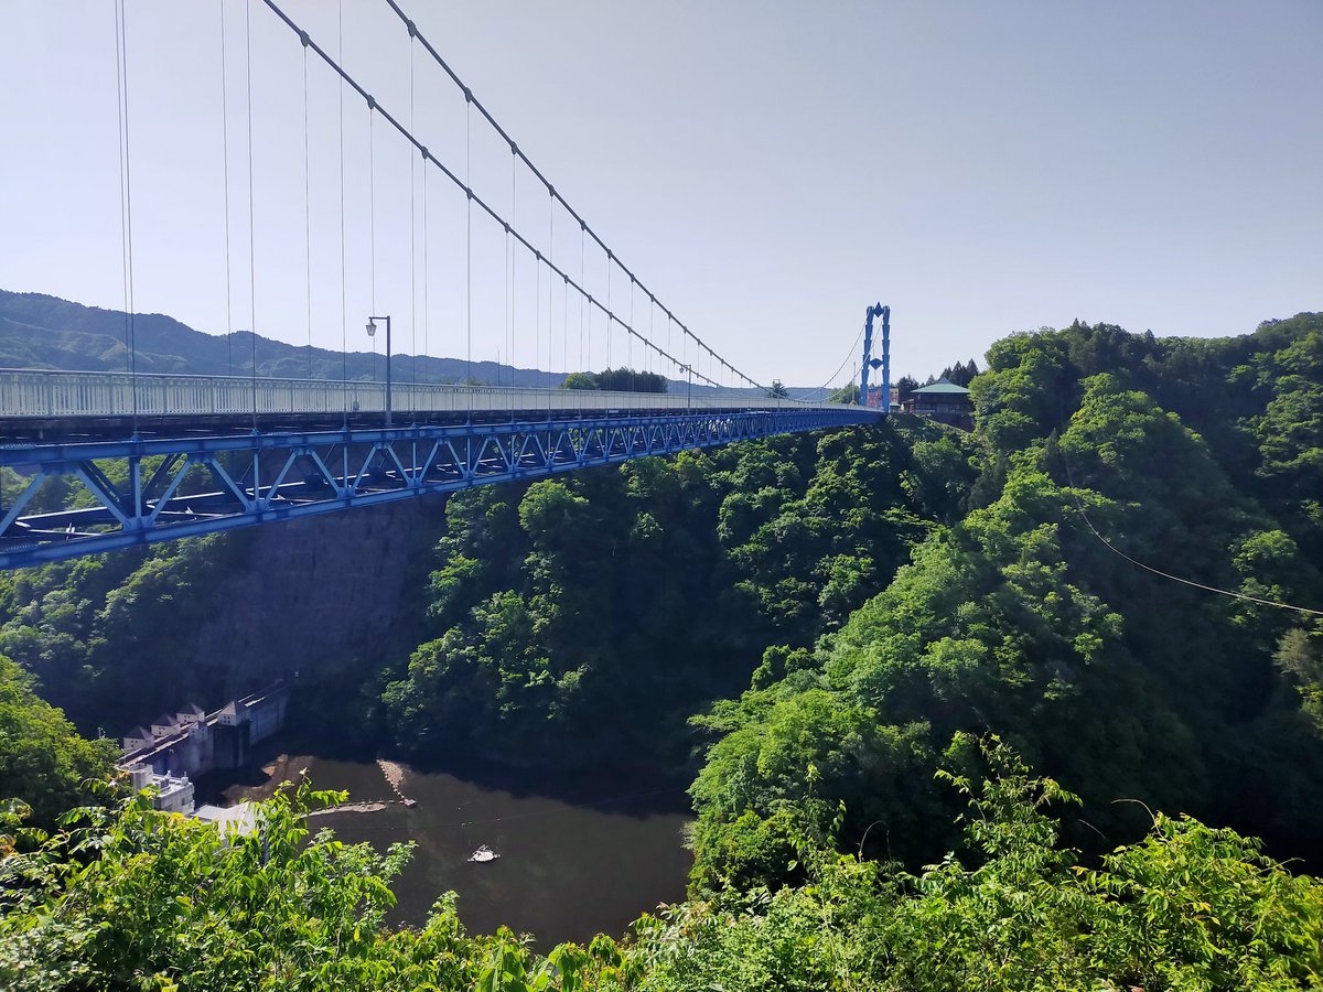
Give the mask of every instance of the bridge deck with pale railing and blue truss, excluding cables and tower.
M 0 489 L 0 567 L 880 419 L 740 394 L 419 386 L 413 407 L 393 394 L 386 426 L 384 389 L 325 384 L 315 399 L 290 382 L 258 380 L 254 414 L 250 380 L 0 372 L 0 466 L 20 477 Z M 250 406 L 225 409 L 239 386 Z M 136 417 L 107 406 L 126 389 Z M 54 479 L 78 505 L 38 509 Z

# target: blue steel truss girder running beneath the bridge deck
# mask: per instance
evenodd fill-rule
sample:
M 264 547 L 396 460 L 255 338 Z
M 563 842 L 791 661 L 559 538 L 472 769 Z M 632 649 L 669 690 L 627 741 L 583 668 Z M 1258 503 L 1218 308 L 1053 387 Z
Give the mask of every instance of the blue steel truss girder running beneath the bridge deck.
M 878 419 L 843 406 L 0 446 L 25 480 L 0 492 L 0 569 Z M 26 513 L 58 476 L 95 505 Z

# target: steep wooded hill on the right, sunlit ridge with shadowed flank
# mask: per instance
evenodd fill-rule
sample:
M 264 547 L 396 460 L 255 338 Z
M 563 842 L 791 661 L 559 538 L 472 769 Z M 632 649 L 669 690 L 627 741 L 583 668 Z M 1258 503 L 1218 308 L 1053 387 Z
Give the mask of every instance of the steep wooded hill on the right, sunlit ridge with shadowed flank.
M 1135 563 L 1323 604 L 1320 341 L 1304 315 L 1228 341 L 1077 324 L 995 344 L 968 513 L 701 720 L 718 739 L 692 790 L 700 889 L 785 877 L 786 811 L 815 796 L 844 800 L 848 845 L 935 856 L 951 839 L 931 774 L 959 731 L 1080 783 L 1074 843 L 1136 836 L 1140 807 L 1117 802 L 1135 799 L 1323 853 L 1318 618 Z

